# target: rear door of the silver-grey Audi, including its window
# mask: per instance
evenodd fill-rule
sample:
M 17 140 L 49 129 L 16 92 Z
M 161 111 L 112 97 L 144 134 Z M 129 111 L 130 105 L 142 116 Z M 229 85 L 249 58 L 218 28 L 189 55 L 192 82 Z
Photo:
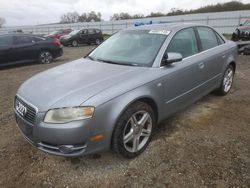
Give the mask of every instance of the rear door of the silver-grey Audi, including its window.
M 213 29 L 202 26 L 196 27 L 196 30 L 203 55 L 203 79 L 206 80 L 203 88 L 204 92 L 210 92 L 220 83 L 226 51 L 223 46 L 220 46 L 223 41 L 218 38 Z

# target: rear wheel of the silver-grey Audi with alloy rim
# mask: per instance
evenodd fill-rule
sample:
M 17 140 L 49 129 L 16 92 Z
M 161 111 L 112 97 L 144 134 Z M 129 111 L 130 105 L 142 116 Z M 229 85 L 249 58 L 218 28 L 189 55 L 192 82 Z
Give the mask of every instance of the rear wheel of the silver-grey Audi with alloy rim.
M 233 85 L 234 72 L 235 72 L 234 67 L 232 65 L 228 65 L 226 71 L 223 74 L 220 87 L 217 90 L 215 90 L 215 93 L 217 95 L 224 96 L 229 93 Z

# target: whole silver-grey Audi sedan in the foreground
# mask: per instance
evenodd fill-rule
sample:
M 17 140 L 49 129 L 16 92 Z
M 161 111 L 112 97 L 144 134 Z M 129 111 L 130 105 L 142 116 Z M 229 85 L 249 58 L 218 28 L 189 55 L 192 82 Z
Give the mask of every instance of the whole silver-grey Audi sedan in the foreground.
M 212 91 L 232 87 L 237 47 L 189 23 L 122 30 L 85 58 L 25 81 L 14 99 L 26 140 L 59 156 L 141 154 L 154 127 Z

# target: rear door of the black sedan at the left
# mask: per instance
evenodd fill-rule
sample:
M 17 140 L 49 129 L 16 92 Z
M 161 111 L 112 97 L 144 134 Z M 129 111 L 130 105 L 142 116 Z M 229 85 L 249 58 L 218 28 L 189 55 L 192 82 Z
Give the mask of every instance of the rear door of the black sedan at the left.
M 11 51 L 12 61 L 29 61 L 34 60 L 35 41 L 32 36 L 14 36 L 13 49 Z

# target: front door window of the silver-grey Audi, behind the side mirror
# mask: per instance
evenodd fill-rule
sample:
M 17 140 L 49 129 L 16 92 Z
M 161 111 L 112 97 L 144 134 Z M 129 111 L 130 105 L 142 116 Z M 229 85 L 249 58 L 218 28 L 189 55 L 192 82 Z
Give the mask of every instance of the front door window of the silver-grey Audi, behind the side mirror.
M 168 52 L 180 53 L 183 58 L 198 53 L 197 40 L 193 28 L 179 31 L 171 40 Z

